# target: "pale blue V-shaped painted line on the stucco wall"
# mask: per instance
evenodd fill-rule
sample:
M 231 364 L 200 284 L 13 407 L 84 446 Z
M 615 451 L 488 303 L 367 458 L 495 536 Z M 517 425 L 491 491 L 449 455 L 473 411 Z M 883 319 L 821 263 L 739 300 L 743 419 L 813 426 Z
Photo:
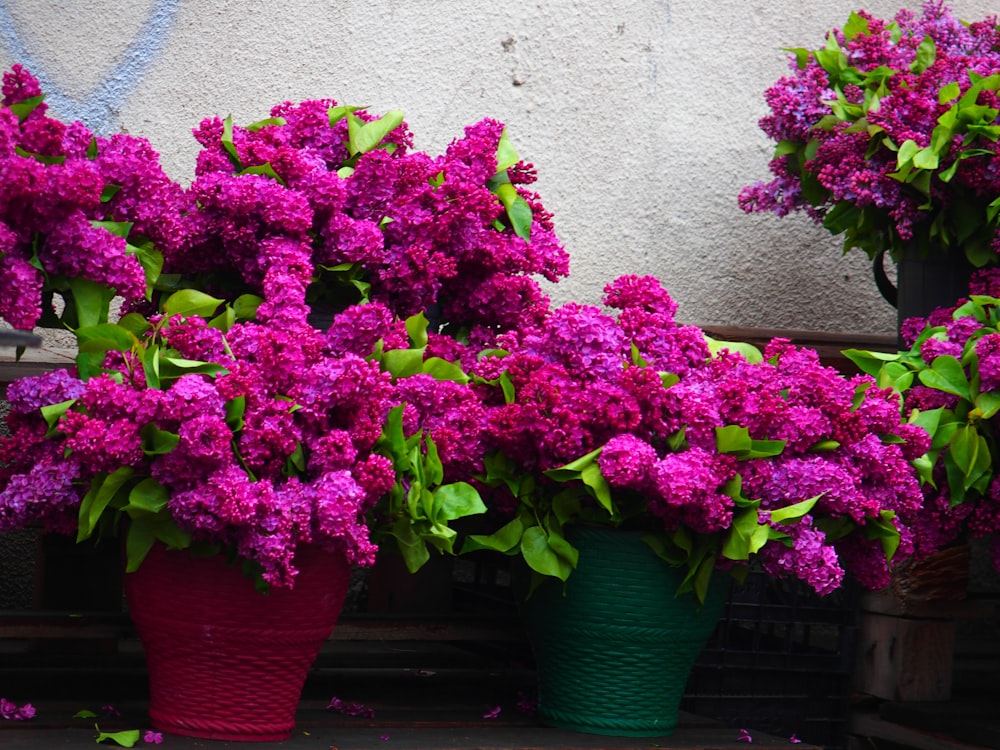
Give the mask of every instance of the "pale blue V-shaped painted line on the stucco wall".
M 0 0 L 0 43 L 14 62 L 21 63 L 38 78 L 46 101 L 61 118 L 80 120 L 94 132 L 107 135 L 118 130 L 118 112 L 156 59 L 179 7 L 180 0 L 155 0 L 149 17 L 117 64 L 83 99 L 61 90 L 58 82 L 51 78 L 32 51 L 30 40 L 23 39 L 18 32 L 7 0 Z

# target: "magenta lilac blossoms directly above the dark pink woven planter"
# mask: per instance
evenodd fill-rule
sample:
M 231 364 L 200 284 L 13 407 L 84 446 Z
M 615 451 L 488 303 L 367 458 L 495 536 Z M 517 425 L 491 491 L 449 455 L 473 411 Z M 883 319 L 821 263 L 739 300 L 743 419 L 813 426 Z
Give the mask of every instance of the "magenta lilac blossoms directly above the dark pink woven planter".
M 7 454 L 16 463 L 0 492 L 0 528 L 71 528 L 91 483 L 130 467 L 169 495 L 182 531 L 233 547 L 269 583 L 292 583 L 295 548 L 309 542 L 371 563 L 365 513 L 394 481 L 391 463 L 373 453 L 394 398 L 389 376 L 356 355 L 329 356 L 308 326 L 238 323 L 219 356 L 221 334 L 192 337 L 190 319 L 171 318 L 147 332 L 149 345 L 174 340 L 175 326 L 186 357 L 223 369 L 163 388 L 145 387 L 124 364 L 85 382 L 59 370 L 11 389 L 12 447 L 44 432 L 32 411 L 40 394 L 75 400 L 39 450 Z

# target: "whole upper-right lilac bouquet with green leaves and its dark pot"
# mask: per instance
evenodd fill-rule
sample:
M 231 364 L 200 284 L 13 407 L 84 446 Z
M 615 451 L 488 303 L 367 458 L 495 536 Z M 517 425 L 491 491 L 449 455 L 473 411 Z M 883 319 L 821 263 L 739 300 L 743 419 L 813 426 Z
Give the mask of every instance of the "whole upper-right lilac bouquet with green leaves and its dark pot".
M 1000 250 L 996 20 L 965 24 L 928 0 L 919 16 L 852 13 L 823 47 L 789 52 L 760 121 L 774 179 L 744 188 L 740 206 L 805 211 L 845 252 L 864 250 L 900 322 L 964 296 Z

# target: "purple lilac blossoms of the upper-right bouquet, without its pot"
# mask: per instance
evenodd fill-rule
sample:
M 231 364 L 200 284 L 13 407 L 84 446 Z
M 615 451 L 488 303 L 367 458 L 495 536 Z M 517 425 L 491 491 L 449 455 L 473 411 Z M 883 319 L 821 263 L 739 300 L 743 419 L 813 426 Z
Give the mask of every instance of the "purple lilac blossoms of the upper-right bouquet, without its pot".
M 988 76 L 997 69 L 995 22 L 963 24 L 936 1 L 925 2 L 920 17 L 899 11 L 891 24 L 864 11 L 856 19 L 860 24 L 855 23 L 850 36 L 839 29 L 832 34 L 853 73 L 850 79 L 825 69 L 816 54 L 801 64 L 793 54 L 791 72 L 765 93 L 770 113 L 760 127 L 782 148 L 769 165 L 773 179 L 745 187 L 740 206 L 778 216 L 804 210 L 817 223 L 835 206 L 862 209 L 868 229 L 847 241 L 874 253 L 877 247 L 895 251 L 914 236 L 915 228 L 947 215 L 952 203 L 977 204 L 983 210 L 980 236 L 998 246 L 995 222 L 987 219 L 985 207 L 996 194 L 1000 171 L 992 150 L 984 149 L 975 133 L 959 133 L 941 155 L 940 170 L 961 166 L 947 185 L 932 186 L 933 210 L 927 210 L 927 196 L 896 179 L 899 147 L 907 141 L 928 146 L 939 118 L 952 105 L 954 99 L 942 100 L 941 90 L 957 84 L 961 96 L 972 85 L 970 74 Z M 864 28 L 858 30 L 860 25 Z M 918 60 L 925 40 L 934 44 L 929 65 Z M 866 80 L 859 81 L 862 77 Z M 993 92 L 983 92 L 979 103 L 991 107 L 994 98 Z M 845 115 L 845 104 L 855 105 L 858 114 Z M 818 125 L 835 113 L 838 126 Z M 877 128 L 875 135 L 848 127 L 855 121 Z M 808 199 L 802 190 L 807 180 L 813 186 Z

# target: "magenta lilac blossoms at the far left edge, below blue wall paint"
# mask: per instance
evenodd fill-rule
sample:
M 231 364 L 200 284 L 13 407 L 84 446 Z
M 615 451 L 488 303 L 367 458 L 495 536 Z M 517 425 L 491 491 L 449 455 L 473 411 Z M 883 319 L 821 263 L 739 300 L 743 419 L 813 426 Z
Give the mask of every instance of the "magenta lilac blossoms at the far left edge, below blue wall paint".
M 45 112 L 37 79 L 13 66 L 0 106 L 0 320 L 25 330 L 55 325 L 54 294 L 67 302 L 64 319 L 100 322 L 84 320 L 77 305 L 87 303 L 74 299 L 68 280 L 96 282 L 109 300 L 141 300 L 146 279 L 136 246 L 169 246 L 183 234 L 176 231 L 183 191 L 146 141 L 97 138 Z M 129 241 L 108 222 L 131 223 Z

